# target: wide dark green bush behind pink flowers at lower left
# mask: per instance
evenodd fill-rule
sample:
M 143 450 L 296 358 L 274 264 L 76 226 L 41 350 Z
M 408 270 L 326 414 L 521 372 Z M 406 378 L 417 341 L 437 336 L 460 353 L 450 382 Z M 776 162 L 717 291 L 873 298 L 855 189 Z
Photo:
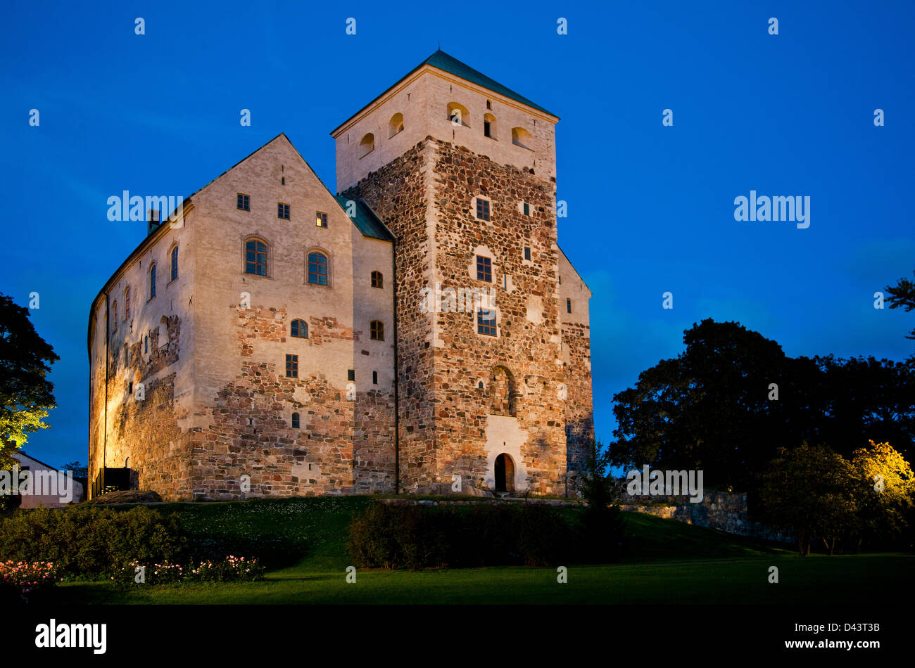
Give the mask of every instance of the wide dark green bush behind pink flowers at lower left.
M 108 578 L 133 561 L 179 563 L 187 546 L 176 515 L 143 506 L 37 508 L 0 519 L 0 559 L 51 561 L 63 578 Z

